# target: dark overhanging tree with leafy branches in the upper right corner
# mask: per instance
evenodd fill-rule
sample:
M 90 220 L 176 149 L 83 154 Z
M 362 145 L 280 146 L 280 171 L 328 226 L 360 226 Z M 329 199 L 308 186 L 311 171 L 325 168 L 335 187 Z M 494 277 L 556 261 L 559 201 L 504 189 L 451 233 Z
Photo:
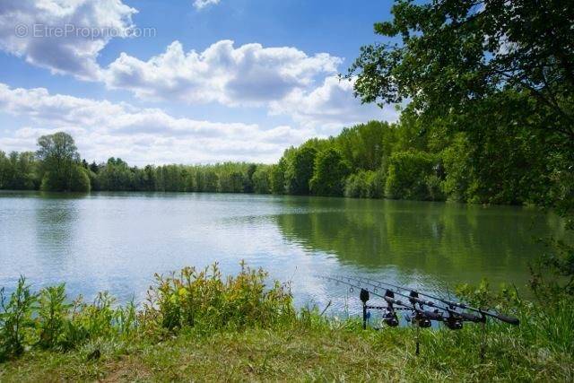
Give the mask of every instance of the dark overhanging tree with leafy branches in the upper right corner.
M 564 204 L 553 196 L 569 187 L 564 182 L 574 163 L 574 4 L 400 0 L 393 14 L 392 21 L 375 24 L 376 33 L 390 39 L 361 48 L 350 68 L 361 100 L 411 100 L 408 109 L 423 123 L 440 120 L 451 132 L 465 131 L 472 144 L 483 140 L 485 127 L 510 136 L 520 126 L 544 144 L 551 165 L 544 171 L 548 178 L 535 182 L 544 190 L 527 194 L 538 204 L 572 213 L 574 201 Z M 509 154 L 499 163 L 515 155 L 504 145 L 497 151 Z

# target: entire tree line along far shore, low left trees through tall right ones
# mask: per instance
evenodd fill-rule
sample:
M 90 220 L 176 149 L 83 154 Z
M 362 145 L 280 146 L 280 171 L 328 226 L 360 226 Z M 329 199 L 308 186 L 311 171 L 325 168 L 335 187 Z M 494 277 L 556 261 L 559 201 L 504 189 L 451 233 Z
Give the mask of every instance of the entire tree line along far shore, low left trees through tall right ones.
M 72 136 L 39 138 L 37 152 L 0 152 L 0 188 L 46 191 L 173 191 L 535 203 L 550 161 L 526 127 L 481 140 L 425 126 L 405 110 L 397 123 L 370 121 L 290 147 L 273 164 L 129 166 L 80 160 Z

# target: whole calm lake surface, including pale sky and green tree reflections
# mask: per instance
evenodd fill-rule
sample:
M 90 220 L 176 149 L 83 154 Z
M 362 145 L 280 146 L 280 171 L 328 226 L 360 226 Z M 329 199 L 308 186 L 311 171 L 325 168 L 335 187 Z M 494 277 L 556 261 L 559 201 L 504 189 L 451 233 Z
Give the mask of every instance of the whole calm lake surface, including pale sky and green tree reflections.
M 225 194 L 0 193 L 0 286 L 65 282 L 91 298 L 143 300 L 154 273 L 239 261 L 291 281 L 298 306 L 344 307 L 343 286 L 316 274 L 361 274 L 447 293 L 456 283 L 516 283 L 563 236 L 535 209 L 428 202 Z M 350 302 L 352 303 L 352 301 Z M 356 303 L 356 302 L 355 302 Z

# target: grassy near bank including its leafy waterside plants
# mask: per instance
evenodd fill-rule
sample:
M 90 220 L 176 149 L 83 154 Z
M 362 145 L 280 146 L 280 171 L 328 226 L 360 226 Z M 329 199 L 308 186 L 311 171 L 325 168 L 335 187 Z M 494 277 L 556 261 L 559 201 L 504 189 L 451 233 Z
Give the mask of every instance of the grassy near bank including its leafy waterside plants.
M 520 326 L 489 321 L 483 361 L 473 325 L 422 330 L 416 356 L 413 328 L 362 330 L 357 317 L 294 309 L 288 284 L 241 266 L 229 277 L 217 265 L 156 274 L 139 305 L 118 305 L 106 292 L 70 300 L 64 284 L 33 292 L 21 278 L 10 296 L 3 293 L 0 380 L 574 378 L 571 298 L 542 304 L 486 284 L 460 286 L 465 300 L 510 312 Z

